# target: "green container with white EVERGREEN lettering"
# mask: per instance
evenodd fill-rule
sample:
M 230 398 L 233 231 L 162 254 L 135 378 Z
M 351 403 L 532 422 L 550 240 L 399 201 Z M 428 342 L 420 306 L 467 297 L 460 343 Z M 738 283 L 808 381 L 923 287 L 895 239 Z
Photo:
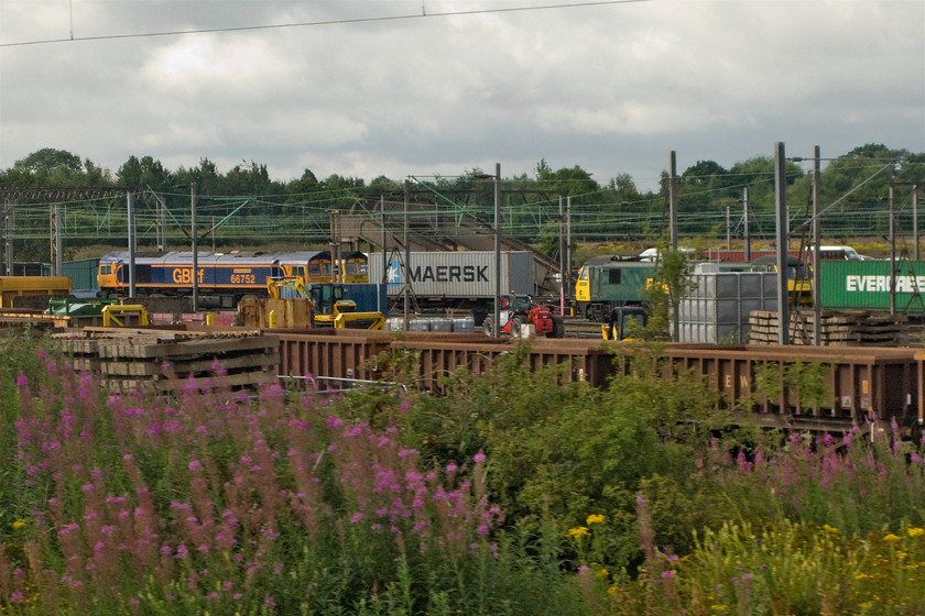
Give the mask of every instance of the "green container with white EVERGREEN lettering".
M 823 261 L 823 308 L 889 310 L 893 277 L 890 261 Z M 896 312 L 925 312 L 925 261 L 896 261 Z

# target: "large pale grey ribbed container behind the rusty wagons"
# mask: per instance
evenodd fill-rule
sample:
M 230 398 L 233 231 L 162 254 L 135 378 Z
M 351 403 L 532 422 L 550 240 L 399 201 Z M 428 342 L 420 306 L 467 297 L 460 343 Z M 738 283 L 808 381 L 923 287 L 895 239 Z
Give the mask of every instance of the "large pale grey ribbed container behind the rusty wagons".
M 707 344 L 749 340 L 749 315 L 777 309 L 777 275 L 768 272 L 710 272 L 678 304 L 678 340 Z

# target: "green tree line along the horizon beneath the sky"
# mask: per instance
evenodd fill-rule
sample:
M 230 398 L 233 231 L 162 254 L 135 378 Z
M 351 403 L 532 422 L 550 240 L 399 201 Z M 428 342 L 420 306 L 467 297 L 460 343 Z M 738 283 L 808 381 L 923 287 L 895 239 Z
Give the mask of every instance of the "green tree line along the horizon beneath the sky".
M 892 164 L 867 182 L 871 175 Z M 465 211 L 490 220 L 493 183 L 480 168 L 458 176 L 415 180 L 412 200 L 436 204 L 448 210 Z M 812 164 L 787 161 L 785 167 L 791 218 L 798 219 L 812 202 Z M 553 244 L 558 233 L 559 197 L 570 198 L 573 233 L 576 241 L 633 241 L 664 233 L 667 222 L 668 173 L 662 172 L 656 190 L 640 190 L 629 174 L 617 174 L 599 182 L 580 166 L 553 169 L 541 160 L 532 174 L 502 177 L 503 226 L 507 233 L 527 242 Z M 157 158 L 130 156 L 111 172 L 89 158 L 55 148 L 42 148 L 0 170 L 0 187 L 132 187 L 160 195 L 168 207 L 182 210 L 189 200 L 189 186 L 207 199 L 215 217 L 291 217 L 298 212 L 300 224 L 307 223 L 318 241 L 324 241 L 330 209 L 347 211 L 357 205 L 370 208 L 385 198 L 404 199 L 402 180 L 379 176 L 362 178 L 330 175 L 318 179 L 311 169 L 301 177 L 281 180 L 270 176 L 265 164 L 242 161 L 221 172 L 210 160 L 200 158 L 192 167 L 165 167 Z M 838 217 L 828 222 L 834 234 L 855 237 L 882 233 L 889 226 L 883 212 L 889 185 L 901 188 L 904 198 L 910 184 L 925 184 L 925 154 L 892 150 L 883 144 L 866 144 L 827 161 L 821 172 L 823 205 L 838 202 Z M 845 195 L 857 186 L 860 189 Z M 734 212 L 733 224 L 741 224 L 744 190 L 754 217 L 752 235 L 773 229 L 774 160 L 755 156 L 729 168 L 715 161 L 698 161 L 679 173 L 677 196 L 682 237 L 725 237 L 727 211 Z M 248 207 L 241 209 L 247 200 Z M 908 208 L 902 216 L 908 217 Z M 308 217 L 308 218 L 306 218 Z M 738 221 L 738 222 L 737 222 Z M 773 235 L 773 231 L 771 231 Z M 545 240 L 545 241 L 544 241 Z

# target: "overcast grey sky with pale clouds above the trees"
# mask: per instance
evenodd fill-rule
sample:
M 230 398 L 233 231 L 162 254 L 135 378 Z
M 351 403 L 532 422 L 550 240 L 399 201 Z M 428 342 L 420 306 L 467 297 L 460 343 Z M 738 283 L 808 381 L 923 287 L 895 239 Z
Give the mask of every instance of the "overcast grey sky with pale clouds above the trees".
M 545 160 L 650 189 L 673 150 L 678 172 L 779 141 L 925 152 L 923 0 L 569 3 L 0 0 L 0 167 L 54 147 L 370 182 Z M 314 25 L 126 36 L 276 24 Z

